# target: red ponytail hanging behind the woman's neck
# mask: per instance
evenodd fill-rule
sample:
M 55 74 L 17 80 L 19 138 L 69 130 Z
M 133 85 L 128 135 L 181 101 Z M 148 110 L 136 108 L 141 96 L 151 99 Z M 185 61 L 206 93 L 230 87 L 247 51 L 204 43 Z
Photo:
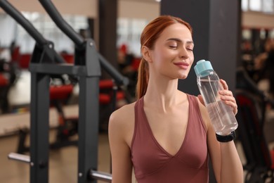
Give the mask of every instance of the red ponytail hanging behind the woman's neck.
M 141 99 L 145 95 L 148 88 L 148 62 L 144 58 L 141 59 L 139 68 L 138 68 L 138 80 L 136 85 L 136 98 Z

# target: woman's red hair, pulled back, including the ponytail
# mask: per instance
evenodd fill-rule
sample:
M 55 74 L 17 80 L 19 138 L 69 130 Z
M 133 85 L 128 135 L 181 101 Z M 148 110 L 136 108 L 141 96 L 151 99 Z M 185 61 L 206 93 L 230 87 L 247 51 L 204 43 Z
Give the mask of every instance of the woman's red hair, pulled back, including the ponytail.
M 171 15 L 161 15 L 155 20 L 152 20 L 143 30 L 141 34 L 141 47 L 147 46 L 148 49 L 153 49 L 154 44 L 160 34 L 164 31 L 166 27 L 169 25 L 173 25 L 175 23 L 181 23 L 188 27 L 191 34 L 193 33 L 193 29 L 189 23 L 185 22 L 181 18 L 174 17 Z M 145 95 L 148 87 L 148 62 L 145 61 L 144 58 L 141 59 L 141 63 L 138 68 L 138 81 L 136 85 L 136 98 L 140 99 Z

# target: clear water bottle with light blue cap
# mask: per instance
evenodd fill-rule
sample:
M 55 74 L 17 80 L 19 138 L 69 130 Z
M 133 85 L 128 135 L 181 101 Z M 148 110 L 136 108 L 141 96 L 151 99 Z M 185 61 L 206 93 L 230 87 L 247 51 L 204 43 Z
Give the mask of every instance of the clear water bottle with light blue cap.
M 217 73 L 210 61 L 198 61 L 194 67 L 197 85 L 209 113 L 216 134 L 227 135 L 237 129 L 233 109 L 221 100 L 218 91 L 223 89 Z

